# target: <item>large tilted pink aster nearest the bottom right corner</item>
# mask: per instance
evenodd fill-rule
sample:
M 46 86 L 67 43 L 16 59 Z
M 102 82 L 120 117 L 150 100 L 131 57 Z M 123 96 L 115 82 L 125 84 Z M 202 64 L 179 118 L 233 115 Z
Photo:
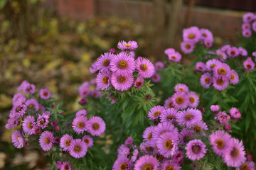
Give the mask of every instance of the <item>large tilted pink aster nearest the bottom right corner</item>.
M 231 138 L 228 145 L 230 148 L 223 153 L 223 162 L 231 167 L 238 167 L 245 163 L 245 149 L 242 145 L 242 141 L 239 142 L 239 140 Z

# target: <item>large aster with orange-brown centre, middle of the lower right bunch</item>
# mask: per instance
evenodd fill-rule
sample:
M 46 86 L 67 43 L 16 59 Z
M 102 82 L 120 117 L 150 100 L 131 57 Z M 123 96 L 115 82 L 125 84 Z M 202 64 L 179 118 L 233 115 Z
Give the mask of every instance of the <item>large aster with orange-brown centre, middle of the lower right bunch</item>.
M 172 157 L 178 149 L 178 136 L 173 136 L 172 132 L 165 132 L 159 136 L 156 147 L 164 157 Z

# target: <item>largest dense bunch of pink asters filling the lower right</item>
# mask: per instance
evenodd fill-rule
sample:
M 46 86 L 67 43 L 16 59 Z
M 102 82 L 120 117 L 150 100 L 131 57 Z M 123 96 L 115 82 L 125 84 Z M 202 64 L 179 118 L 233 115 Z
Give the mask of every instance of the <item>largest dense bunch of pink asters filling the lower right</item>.
M 186 86 L 178 85 L 176 89 L 188 90 Z M 228 121 L 235 122 L 241 118 L 237 108 L 231 108 L 228 115 L 220 111 L 219 106 L 211 106 L 217 121 L 208 127 L 203 122 L 202 108 L 187 107 L 180 111 L 163 106 L 151 108 L 149 119 L 154 120 L 154 125 L 144 130 L 144 142 L 138 147 L 129 137 L 117 149 L 118 157 L 112 169 L 181 169 L 181 166 L 183 169 L 206 169 L 210 168 L 210 162 L 221 159 L 227 166 L 237 169 L 255 169 L 251 159 L 246 161 L 242 142 L 228 134 Z M 220 163 L 213 163 L 214 167 L 215 164 Z

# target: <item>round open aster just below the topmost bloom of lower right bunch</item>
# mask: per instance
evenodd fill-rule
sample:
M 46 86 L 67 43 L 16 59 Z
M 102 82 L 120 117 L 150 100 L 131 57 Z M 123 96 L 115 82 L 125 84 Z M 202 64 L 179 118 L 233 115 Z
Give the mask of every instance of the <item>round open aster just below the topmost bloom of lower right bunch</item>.
M 184 109 L 188 107 L 188 96 L 184 92 L 175 93 L 171 96 L 174 108 L 176 109 Z

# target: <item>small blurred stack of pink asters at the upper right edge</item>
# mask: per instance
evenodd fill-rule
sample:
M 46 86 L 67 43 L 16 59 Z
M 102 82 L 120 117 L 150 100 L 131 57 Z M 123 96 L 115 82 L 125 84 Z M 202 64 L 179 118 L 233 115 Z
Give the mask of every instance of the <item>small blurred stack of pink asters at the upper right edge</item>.
M 242 21 L 242 36 L 249 38 L 252 36 L 252 30 L 256 32 L 256 16 L 254 13 L 245 13 Z

